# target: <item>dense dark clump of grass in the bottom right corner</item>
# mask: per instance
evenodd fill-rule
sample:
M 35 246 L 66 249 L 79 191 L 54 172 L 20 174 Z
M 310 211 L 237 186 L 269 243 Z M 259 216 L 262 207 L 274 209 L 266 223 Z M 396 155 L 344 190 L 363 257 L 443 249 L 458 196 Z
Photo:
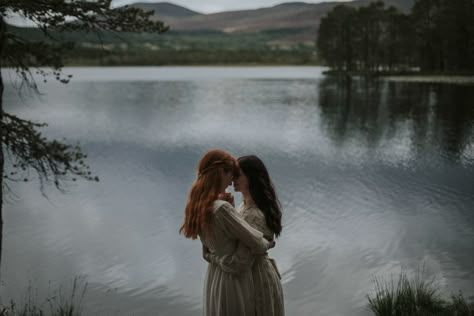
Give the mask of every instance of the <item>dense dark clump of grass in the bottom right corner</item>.
M 427 281 L 420 274 L 409 279 L 402 272 L 396 282 L 376 278 L 373 283 L 375 294 L 367 298 L 375 316 L 474 316 L 474 305 L 462 294 L 445 300 L 433 280 Z

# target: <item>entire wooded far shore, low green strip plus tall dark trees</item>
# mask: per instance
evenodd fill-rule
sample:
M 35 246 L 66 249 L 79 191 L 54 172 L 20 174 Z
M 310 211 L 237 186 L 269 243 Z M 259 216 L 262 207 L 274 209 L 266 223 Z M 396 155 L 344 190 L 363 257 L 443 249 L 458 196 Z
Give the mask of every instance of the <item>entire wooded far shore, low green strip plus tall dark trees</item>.
M 321 18 L 314 45 L 282 42 L 298 38 L 305 28 L 106 33 L 100 38 L 76 31 L 51 34 L 74 43 L 74 49 L 63 50 L 65 66 L 324 65 L 329 73 L 349 75 L 472 76 L 471 21 L 471 0 L 417 0 L 410 12 L 377 1 L 337 5 Z M 32 42 L 51 41 L 38 29 L 8 28 Z

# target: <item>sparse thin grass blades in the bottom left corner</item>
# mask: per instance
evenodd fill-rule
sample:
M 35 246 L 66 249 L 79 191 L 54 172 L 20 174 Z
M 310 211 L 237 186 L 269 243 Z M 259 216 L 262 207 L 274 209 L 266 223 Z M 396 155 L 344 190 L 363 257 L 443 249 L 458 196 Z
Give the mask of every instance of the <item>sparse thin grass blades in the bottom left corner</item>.
M 81 279 L 74 278 L 71 288 L 65 293 L 60 286 L 42 302 L 37 301 L 33 288 L 28 286 L 24 301 L 17 304 L 11 300 L 3 304 L 0 300 L 0 316 L 80 316 L 87 283 L 80 285 Z

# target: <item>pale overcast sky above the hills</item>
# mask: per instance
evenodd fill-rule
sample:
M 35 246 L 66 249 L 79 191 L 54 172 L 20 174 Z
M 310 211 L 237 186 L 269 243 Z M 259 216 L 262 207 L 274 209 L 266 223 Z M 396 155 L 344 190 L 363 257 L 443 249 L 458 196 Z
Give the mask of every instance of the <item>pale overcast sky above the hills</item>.
M 307 3 L 328 2 L 330 0 L 308 0 L 301 1 Z M 347 2 L 350 0 L 332 0 L 331 2 Z M 125 5 L 134 2 L 164 2 L 159 0 L 114 0 L 114 5 Z M 245 9 L 256 9 L 271 7 L 285 2 L 295 2 L 295 0 L 170 0 L 171 2 L 200 13 L 215 13 L 222 11 L 234 11 Z

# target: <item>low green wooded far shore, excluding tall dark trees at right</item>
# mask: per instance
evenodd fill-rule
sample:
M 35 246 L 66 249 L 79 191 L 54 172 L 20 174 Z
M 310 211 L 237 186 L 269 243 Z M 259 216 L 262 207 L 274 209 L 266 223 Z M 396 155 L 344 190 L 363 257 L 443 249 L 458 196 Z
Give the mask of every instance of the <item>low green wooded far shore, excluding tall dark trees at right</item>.
M 33 28 L 9 27 L 32 42 L 52 42 Z M 52 32 L 54 38 L 74 43 L 63 51 L 65 66 L 164 66 L 164 65 L 319 65 L 314 45 L 268 45 L 304 29 L 281 29 L 257 33 L 226 34 L 214 31 L 169 31 L 165 34 L 97 38 L 85 32 Z M 52 42 L 55 44 L 54 42 Z

